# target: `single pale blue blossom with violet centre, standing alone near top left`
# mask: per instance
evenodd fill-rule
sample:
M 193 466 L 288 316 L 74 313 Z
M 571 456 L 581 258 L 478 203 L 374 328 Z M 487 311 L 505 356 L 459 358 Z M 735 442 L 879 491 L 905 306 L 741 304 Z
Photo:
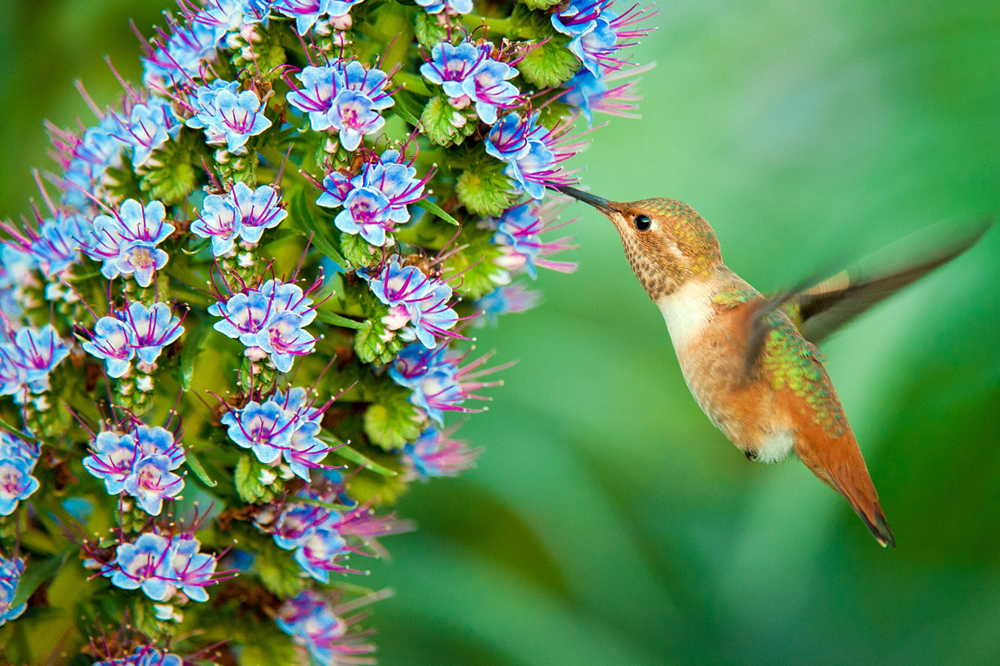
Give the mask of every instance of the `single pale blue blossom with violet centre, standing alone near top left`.
M 247 140 L 271 126 L 257 93 L 240 92 L 235 81 L 213 81 L 195 89 L 194 97 L 198 108 L 188 127 L 204 128 L 208 143 L 225 145 L 233 154 L 245 154 Z

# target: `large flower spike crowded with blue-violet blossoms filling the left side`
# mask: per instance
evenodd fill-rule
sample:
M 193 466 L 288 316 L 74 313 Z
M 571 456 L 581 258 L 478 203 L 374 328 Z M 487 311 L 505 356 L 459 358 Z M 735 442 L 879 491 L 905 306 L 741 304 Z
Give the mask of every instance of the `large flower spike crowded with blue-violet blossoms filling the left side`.
M 357 576 L 475 464 L 452 417 L 509 364 L 472 333 L 575 269 L 550 187 L 578 119 L 635 115 L 654 13 L 181 0 L 141 83 L 49 125 L 0 222 L 5 657 L 374 663 Z

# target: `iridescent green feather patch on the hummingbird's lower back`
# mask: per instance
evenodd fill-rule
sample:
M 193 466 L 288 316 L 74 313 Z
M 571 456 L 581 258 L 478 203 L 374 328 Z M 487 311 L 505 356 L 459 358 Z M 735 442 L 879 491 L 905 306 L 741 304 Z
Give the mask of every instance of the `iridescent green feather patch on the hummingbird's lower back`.
M 760 357 L 760 367 L 775 391 L 789 389 L 806 401 L 812 410 L 813 423 L 831 437 L 847 432 L 847 418 L 833 389 L 833 382 L 823 371 L 826 360 L 811 342 L 802 337 L 784 311 L 767 315 L 770 331 Z

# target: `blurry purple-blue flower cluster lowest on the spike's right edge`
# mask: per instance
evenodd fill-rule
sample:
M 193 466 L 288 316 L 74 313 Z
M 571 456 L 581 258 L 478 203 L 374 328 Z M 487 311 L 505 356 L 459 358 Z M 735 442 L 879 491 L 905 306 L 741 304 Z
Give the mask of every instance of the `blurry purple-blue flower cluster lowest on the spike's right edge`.
M 348 663 L 339 657 L 356 657 L 375 651 L 373 645 L 348 634 L 348 623 L 334 614 L 315 592 L 306 590 L 288 599 L 278 614 L 278 626 L 321 664 Z M 354 661 L 351 663 L 364 663 Z

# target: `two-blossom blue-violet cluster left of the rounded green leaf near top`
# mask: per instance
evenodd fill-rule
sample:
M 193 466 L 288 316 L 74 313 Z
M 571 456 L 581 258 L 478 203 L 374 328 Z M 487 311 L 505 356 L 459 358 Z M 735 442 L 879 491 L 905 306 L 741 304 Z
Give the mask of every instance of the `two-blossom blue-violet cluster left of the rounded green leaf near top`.
M 443 42 L 431 49 L 430 60 L 420 67 L 425 79 L 444 89 L 453 106 L 474 103 L 476 114 L 487 125 L 496 122 L 498 109 L 520 104 L 520 91 L 510 83 L 517 70 L 491 58 L 491 50 L 489 44 Z

